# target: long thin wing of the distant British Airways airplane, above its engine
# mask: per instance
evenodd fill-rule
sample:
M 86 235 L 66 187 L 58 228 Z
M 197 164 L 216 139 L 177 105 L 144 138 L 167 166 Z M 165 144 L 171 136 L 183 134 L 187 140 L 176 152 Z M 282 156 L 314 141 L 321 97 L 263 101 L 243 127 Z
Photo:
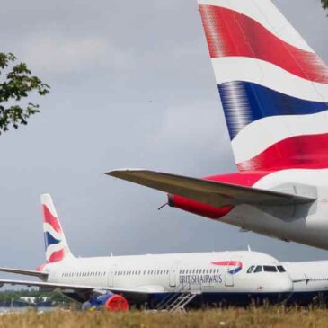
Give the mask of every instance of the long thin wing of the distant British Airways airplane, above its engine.
M 4 285 L 11 286 L 26 286 L 26 287 L 38 287 L 42 289 L 54 290 L 72 290 L 72 291 L 111 291 L 112 293 L 118 294 L 155 294 L 163 293 L 164 288 L 162 286 L 141 286 L 138 288 L 112 288 L 106 286 L 90 286 L 90 285 L 77 285 L 77 284 L 60 284 L 52 282 L 41 282 L 41 281 L 27 281 L 27 280 L 12 280 L 12 279 L 0 279 L 0 287 Z

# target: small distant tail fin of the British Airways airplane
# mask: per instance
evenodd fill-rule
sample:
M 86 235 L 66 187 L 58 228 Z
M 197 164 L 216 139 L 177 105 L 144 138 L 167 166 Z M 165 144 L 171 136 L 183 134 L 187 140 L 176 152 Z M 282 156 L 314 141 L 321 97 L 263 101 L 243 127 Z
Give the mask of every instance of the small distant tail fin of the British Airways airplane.
M 47 262 L 58 262 L 68 256 L 73 256 L 66 242 L 51 196 L 49 194 L 41 195 L 41 204 Z

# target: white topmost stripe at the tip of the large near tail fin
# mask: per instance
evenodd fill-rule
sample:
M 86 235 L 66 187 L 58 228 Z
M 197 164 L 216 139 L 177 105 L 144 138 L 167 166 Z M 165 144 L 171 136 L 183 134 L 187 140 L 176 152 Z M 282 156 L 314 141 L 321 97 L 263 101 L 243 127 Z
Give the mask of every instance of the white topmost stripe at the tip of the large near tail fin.
M 199 4 L 221 6 L 243 13 L 262 24 L 279 39 L 298 49 L 314 52 L 270 0 L 199 0 Z

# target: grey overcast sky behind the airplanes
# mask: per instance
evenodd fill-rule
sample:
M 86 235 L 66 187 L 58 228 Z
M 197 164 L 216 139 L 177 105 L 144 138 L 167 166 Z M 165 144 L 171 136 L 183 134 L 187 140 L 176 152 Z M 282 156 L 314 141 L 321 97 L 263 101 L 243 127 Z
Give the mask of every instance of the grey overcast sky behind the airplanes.
M 319 0 L 275 0 L 328 62 Z M 246 249 L 281 260 L 328 254 L 157 208 L 165 194 L 103 175 L 146 167 L 235 171 L 196 0 L 6 1 L 0 51 L 51 85 L 27 127 L 0 136 L 0 265 L 44 262 L 40 193 L 75 255 Z

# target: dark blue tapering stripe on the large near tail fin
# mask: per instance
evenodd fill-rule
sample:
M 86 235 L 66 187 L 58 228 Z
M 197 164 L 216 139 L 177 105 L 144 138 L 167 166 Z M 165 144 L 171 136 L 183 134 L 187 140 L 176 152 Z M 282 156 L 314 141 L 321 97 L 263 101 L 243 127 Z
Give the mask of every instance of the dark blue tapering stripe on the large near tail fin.
M 315 114 L 328 110 L 328 102 L 298 99 L 250 82 L 218 84 L 218 92 L 231 139 L 255 120 L 279 115 Z

